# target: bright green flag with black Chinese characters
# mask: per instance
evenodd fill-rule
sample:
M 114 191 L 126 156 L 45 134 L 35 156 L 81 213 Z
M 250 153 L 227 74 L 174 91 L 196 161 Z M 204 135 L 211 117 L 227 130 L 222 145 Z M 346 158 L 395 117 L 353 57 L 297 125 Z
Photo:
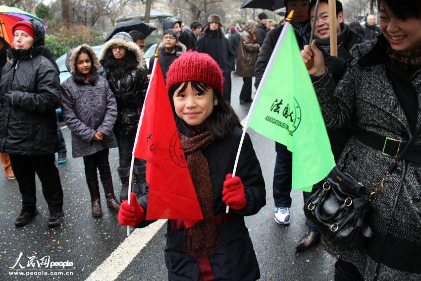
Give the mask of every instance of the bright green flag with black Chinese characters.
M 335 161 L 316 93 L 289 23 L 284 25 L 256 95 L 256 105 L 249 112 L 250 127 L 292 152 L 292 188 L 311 191 Z

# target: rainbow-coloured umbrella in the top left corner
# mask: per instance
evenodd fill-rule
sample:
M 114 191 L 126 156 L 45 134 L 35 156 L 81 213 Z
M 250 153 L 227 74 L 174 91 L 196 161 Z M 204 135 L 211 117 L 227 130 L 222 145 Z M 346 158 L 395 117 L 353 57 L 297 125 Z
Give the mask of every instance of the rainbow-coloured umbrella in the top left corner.
M 0 36 L 3 37 L 7 43 L 11 44 L 14 37 L 12 34 L 13 25 L 17 21 L 26 19 L 36 19 L 43 24 L 44 30 L 46 29 L 43 20 L 39 17 L 16 7 L 0 5 Z

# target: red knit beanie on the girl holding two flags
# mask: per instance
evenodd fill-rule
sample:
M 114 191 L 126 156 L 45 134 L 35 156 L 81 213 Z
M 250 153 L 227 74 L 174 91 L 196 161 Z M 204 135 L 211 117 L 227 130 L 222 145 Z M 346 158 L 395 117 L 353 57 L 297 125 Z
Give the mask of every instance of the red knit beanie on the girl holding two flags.
M 166 88 L 187 81 L 196 81 L 211 86 L 222 95 L 224 78 L 222 70 L 211 56 L 189 51 L 179 56 L 168 69 Z

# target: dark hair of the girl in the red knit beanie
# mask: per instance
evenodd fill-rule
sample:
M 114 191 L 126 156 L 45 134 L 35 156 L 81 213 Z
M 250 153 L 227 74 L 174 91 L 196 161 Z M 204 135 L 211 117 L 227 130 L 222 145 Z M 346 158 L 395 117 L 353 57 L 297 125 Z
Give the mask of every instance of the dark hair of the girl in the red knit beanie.
M 171 102 L 172 112 L 174 113 L 175 123 L 177 124 L 178 131 L 184 135 L 190 135 L 194 130 L 190 125 L 184 122 L 183 119 L 179 118 L 174 110 L 174 101 L 172 99 L 175 90 L 177 90 L 181 84 L 183 84 L 180 92 L 183 92 L 188 85 L 188 82 L 181 82 L 172 86 L 168 91 L 169 100 Z M 203 84 L 201 82 L 191 81 L 192 88 L 196 91 L 203 93 L 208 89 L 213 90 L 213 95 L 217 98 L 218 104 L 213 107 L 211 115 L 206 119 L 206 121 L 201 125 L 204 129 L 208 130 L 211 133 L 211 136 L 215 139 L 220 139 L 228 135 L 234 127 L 242 127 L 240 119 L 237 114 L 235 114 L 232 107 L 224 101 L 218 90 L 211 88 L 210 86 Z

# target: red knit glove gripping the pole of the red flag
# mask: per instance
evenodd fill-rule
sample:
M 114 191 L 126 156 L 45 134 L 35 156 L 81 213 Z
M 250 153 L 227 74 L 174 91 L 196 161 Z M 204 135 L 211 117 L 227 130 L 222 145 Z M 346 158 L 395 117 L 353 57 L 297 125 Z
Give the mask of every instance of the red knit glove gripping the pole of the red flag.
M 127 204 L 127 200 L 121 202 L 117 219 L 120 225 L 130 226 L 140 225 L 145 220 L 143 208 L 137 202 L 136 194 L 130 193 L 130 205 Z

